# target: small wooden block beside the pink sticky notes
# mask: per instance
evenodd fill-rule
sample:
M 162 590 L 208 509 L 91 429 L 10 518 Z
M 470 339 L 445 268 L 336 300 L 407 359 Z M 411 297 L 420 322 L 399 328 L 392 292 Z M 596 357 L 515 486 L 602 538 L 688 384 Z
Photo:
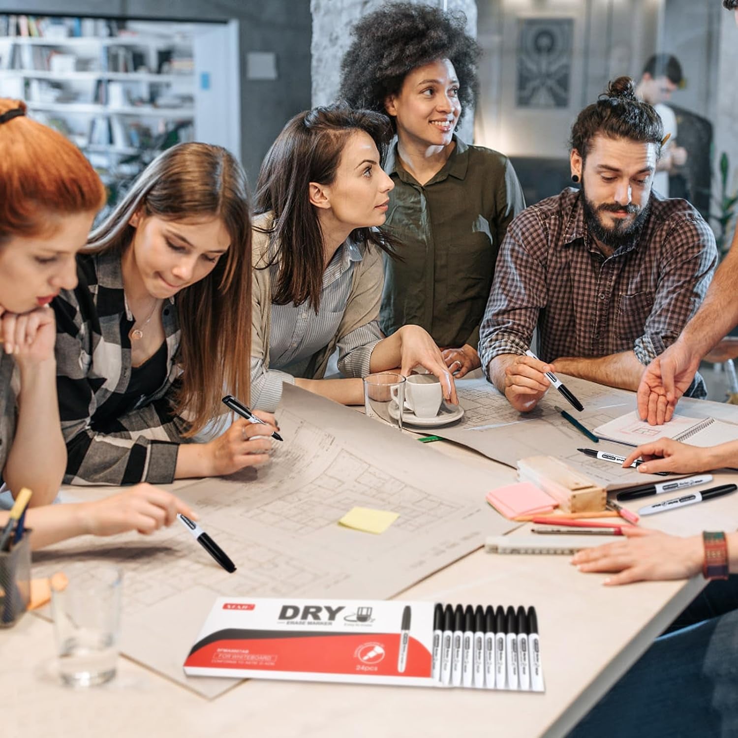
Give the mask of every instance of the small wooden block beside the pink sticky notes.
M 607 503 L 604 487 L 553 456 L 520 459 L 517 471 L 520 481 L 548 492 L 565 512 L 599 512 Z

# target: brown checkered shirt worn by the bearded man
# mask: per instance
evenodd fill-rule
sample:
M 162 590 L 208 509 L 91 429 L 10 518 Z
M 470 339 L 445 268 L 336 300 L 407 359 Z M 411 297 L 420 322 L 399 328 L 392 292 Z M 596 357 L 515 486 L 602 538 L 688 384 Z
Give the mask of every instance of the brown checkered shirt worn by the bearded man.
M 605 258 L 588 235 L 579 190 L 567 188 L 508 227 L 480 331 L 482 366 L 524 354 L 536 327 L 545 362 L 634 351 L 647 365 L 697 311 L 716 264 L 700 213 L 657 193 L 638 241 Z M 702 380 L 693 383 L 692 396 L 705 395 Z

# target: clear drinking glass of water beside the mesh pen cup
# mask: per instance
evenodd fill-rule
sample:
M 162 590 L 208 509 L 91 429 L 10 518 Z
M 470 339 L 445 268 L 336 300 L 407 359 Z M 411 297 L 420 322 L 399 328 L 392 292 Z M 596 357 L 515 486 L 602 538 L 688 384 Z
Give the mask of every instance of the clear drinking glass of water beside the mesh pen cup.
M 69 686 L 95 686 L 115 676 L 122 573 L 108 565 L 75 565 L 52 577 L 59 673 Z

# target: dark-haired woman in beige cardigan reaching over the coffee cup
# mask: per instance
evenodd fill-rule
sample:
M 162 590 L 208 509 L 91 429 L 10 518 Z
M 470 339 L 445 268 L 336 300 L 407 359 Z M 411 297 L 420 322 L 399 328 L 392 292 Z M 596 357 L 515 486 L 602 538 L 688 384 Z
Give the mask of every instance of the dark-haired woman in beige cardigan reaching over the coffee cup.
M 456 401 L 441 352 L 418 325 L 379 329 L 381 230 L 392 180 L 381 153 L 387 117 L 345 106 L 287 123 L 266 154 L 256 194 L 251 381 L 255 407 L 277 407 L 283 382 L 362 404 L 362 376 L 422 365 Z M 323 379 L 338 348 L 346 379 Z

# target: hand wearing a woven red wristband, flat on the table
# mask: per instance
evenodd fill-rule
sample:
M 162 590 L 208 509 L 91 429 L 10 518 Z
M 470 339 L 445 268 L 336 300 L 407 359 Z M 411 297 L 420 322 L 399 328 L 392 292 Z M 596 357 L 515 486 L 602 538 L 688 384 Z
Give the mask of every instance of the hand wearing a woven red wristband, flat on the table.
M 625 539 L 585 548 L 571 562 L 579 571 L 612 572 L 603 584 L 645 580 L 689 579 L 700 573 L 705 560 L 701 536 L 680 538 L 635 526 L 624 527 Z

